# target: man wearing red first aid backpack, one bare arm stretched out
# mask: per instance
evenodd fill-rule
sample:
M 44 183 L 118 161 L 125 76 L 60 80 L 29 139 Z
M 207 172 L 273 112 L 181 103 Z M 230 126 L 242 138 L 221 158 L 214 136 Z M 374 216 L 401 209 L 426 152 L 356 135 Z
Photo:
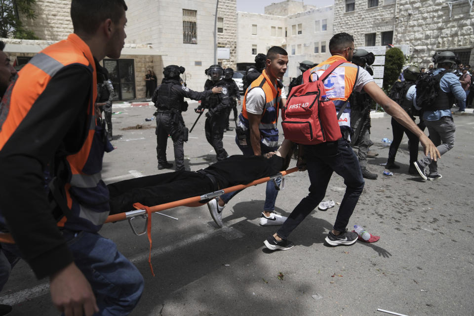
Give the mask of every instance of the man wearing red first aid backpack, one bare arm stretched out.
M 385 112 L 417 135 L 426 154 L 436 159 L 436 155 L 439 153 L 435 145 L 416 126 L 408 114 L 395 101 L 385 95 L 366 70 L 350 63 L 356 52 L 354 38 L 347 33 L 334 35 L 329 41 L 329 51 L 332 56 L 311 70 L 311 79 L 315 81 L 334 62 L 344 61 L 324 80 L 326 97 L 334 102 L 336 111 L 341 111 L 353 91 L 360 92 L 363 89 L 384 108 Z M 288 250 L 294 246 L 288 240 L 288 236 L 324 198 L 333 172 L 344 178 L 346 193 L 339 206 L 333 229 L 327 234 L 325 240 L 333 246 L 351 245 L 356 242 L 357 234 L 348 232 L 346 227 L 362 193 L 364 180 L 356 154 L 349 145 L 347 137 L 348 126 L 350 126 L 350 110 L 346 112 L 348 109 L 350 109 L 350 105 L 344 110 L 339 120 L 342 138 L 334 142 L 300 146 L 298 165 L 301 166 L 303 160 L 306 161 L 311 182 L 309 194 L 295 207 L 280 229 L 264 241 L 267 248 Z M 346 118 L 348 119 L 346 120 Z

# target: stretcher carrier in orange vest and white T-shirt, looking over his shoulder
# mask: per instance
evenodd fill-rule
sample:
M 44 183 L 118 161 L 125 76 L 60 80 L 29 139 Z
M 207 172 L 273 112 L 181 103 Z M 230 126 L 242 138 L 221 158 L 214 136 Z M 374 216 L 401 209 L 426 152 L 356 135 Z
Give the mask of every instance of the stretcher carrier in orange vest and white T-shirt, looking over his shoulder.
M 281 47 L 273 46 L 268 50 L 266 69 L 253 81 L 245 92 L 242 112 L 239 115 L 236 143 L 243 155 L 265 155 L 278 148 L 278 111 L 286 99 L 281 80 L 286 72 L 288 53 Z M 281 181 L 281 180 L 279 180 Z M 277 185 L 280 182 L 277 181 Z M 212 218 L 219 227 L 225 204 L 240 191 L 225 194 L 207 203 Z M 274 213 L 278 190 L 273 181 L 267 182 L 267 190 L 260 225 L 281 225 L 285 216 Z

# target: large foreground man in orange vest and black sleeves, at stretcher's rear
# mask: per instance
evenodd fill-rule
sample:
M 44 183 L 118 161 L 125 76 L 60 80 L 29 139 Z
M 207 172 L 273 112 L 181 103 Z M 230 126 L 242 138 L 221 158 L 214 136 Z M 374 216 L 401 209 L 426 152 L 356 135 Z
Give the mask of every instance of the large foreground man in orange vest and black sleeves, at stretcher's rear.
M 98 234 L 109 192 L 96 69 L 120 57 L 126 10 L 124 0 L 72 0 L 74 33 L 35 55 L 0 104 L 1 229 L 35 275 L 49 278 L 66 316 L 128 315 L 144 287 L 138 269 Z

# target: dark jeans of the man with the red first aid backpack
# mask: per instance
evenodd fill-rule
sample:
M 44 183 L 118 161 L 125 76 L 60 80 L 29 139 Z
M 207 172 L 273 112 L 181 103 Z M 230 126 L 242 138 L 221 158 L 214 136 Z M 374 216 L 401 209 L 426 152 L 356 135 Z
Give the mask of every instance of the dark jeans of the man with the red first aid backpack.
M 291 232 L 308 216 L 326 195 L 327 185 L 335 171 L 344 178 L 346 193 L 337 212 L 334 230 L 344 232 L 349 218 L 364 188 L 364 179 L 356 154 L 349 143 L 341 138 L 336 142 L 304 147 L 306 167 L 310 177 L 310 193 L 291 212 L 276 234 L 288 239 Z

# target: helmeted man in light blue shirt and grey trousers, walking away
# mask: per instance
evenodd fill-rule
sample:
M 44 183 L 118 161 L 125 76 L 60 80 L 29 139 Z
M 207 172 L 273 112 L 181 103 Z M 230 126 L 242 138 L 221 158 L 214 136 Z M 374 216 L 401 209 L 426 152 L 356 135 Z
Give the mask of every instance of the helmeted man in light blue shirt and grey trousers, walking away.
M 439 80 L 439 86 L 437 87 L 437 98 L 434 104 L 430 104 L 427 109 L 424 109 L 423 120 L 425 121 L 426 127 L 430 132 L 430 139 L 435 143 L 440 155 L 446 154 L 451 148 L 454 147 L 454 138 L 456 134 L 456 125 L 453 121 L 451 113 L 451 107 L 453 106 L 454 99 L 458 102 L 466 105 L 466 93 L 461 86 L 461 82 L 453 73 L 449 70 L 453 69 L 456 65 L 456 55 L 450 51 L 440 52 L 435 56 L 435 63 L 437 64 L 436 70 L 433 75 L 437 75 L 441 72 L 446 72 Z M 416 90 L 413 91 L 410 96 L 416 104 Z M 409 98 L 407 93 L 407 99 Z M 459 111 L 464 112 L 464 109 Z M 418 161 L 413 162 L 416 170 L 424 180 L 437 180 L 441 179 L 441 175 L 438 173 L 438 165 L 436 160 L 431 159 L 429 156 L 425 156 Z M 427 170 L 428 168 L 428 170 Z

